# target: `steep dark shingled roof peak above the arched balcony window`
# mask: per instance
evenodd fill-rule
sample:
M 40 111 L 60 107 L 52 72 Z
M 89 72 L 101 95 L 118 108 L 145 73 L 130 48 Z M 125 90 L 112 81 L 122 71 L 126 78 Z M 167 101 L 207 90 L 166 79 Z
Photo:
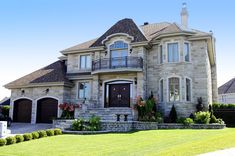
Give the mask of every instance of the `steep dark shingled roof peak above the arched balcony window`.
M 139 30 L 138 26 L 134 23 L 132 19 L 122 19 L 114 24 L 108 31 L 106 31 L 100 38 L 98 38 L 91 47 L 102 46 L 102 41 L 107 37 L 115 33 L 126 33 L 134 37 L 132 42 L 142 42 L 147 41 L 145 36 Z

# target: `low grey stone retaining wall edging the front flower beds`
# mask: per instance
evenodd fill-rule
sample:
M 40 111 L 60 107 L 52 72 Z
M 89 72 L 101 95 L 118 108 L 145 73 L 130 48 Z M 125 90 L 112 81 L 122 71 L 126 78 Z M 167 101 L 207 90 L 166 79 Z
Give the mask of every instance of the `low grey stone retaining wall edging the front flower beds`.
M 72 125 L 73 120 L 53 120 L 54 128 L 61 128 L 65 133 Z M 156 129 L 223 129 L 225 124 L 192 124 L 183 125 L 177 123 L 157 123 L 157 122 L 139 122 L 139 121 L 101 121 L 101 131 L 104 132 L 128 132 L 133 130 L 156 130 Z M 90 133 L 90 131 L 74 132 L 72 134 L 98 134 L 99 132 Z

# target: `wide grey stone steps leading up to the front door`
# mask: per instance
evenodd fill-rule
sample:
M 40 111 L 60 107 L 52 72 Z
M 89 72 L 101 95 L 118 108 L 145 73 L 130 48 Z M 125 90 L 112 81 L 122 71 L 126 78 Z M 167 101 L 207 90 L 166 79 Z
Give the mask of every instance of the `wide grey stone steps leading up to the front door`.
M 134 112 L 127 107 L 87 108 L 75 113 L 75 118 L 88 120 L 91 116 L 99 116 L 102 121 L 133 121 Z

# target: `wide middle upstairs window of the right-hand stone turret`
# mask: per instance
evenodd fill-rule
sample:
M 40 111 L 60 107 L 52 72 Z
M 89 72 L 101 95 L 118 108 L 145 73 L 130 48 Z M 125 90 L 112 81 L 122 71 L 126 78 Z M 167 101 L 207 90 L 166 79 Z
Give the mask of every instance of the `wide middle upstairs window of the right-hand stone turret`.
M 179 49 L 178 43 L 167 44 L 168 62 L 179 62 Z

